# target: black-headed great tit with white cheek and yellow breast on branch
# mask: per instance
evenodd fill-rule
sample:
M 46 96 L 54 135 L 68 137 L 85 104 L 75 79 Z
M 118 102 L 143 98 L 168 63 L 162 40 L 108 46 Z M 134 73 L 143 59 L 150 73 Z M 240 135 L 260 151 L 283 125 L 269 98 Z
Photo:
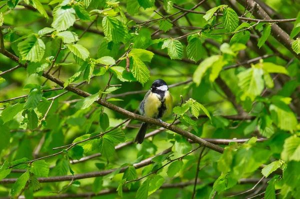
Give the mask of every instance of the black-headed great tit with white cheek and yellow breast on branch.
M 150 90 L 139 104 L 139 113 L 143 116 L 159 119 L 170 113 L 173 99 L 168 91 L 168 86 L 162 79 L 156 79 Z M 160 119 L 159 119 L 160 120 Z M 160 120 L 161 121 L 161 120 Z M 143 122 L 137 132 L 134 142 L 141 144 L 149 124 Z

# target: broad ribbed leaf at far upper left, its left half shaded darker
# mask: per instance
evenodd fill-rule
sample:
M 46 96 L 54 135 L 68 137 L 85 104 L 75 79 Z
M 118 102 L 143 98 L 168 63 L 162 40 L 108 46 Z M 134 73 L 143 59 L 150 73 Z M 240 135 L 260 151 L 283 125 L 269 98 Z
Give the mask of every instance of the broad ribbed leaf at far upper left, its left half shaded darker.
M 22 60 L 32 62 L 40 61 L 45 52 L 45 44 L 33 34 L 28 36 L 24 41 L 19 42 L 17 47 Z

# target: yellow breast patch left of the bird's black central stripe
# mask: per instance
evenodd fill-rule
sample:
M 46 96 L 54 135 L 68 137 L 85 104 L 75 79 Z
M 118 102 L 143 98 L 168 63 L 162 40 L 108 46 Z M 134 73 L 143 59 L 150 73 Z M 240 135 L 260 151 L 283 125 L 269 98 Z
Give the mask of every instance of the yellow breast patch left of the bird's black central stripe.
M 144 116 L 153 118 L 155 115 L 158 115 L 160 105 L 160 96 L 150 92 L 144 102 Z

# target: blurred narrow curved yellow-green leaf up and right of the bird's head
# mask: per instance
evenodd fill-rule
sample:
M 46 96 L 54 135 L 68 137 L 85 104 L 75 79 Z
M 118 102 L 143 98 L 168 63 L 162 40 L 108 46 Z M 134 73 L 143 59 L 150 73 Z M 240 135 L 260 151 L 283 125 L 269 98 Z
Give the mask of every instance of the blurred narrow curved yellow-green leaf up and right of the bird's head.
M 192 80 L 193 82 L 199 86 L 201 83 L 201 79 L 206 72 L 206 70 L 212 66 L 212 64 L 217 61 L 220 58 L 220 55 L 212 55 L 199 64 L 199 66 L 196 68 L 195 72 L 193 73 Z

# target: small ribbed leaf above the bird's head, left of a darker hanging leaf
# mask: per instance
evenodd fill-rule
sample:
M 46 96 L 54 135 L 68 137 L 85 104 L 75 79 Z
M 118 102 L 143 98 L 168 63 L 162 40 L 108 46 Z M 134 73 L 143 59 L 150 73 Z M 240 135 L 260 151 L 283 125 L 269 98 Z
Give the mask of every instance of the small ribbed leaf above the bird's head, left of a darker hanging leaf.
M 176 39 L 166 39 L 163 45 L 167 45 L 167 54 L 171 59 L 182 59 L 183 45 Z M 162 49 L 164 46 L 162 47 Z

